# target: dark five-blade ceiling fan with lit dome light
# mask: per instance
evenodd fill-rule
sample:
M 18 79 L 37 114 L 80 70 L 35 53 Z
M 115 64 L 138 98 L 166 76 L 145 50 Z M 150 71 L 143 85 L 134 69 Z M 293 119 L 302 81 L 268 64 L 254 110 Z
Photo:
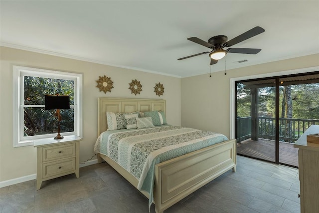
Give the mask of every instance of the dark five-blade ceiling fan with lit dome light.
M 209 57 L 211 57 L 210 60 L 210 65 L 215 64 L 218 62 L 219 59 L 223 58 L 228 52 L 230 53 L 244 53 L 244 54 L 257 54 L 260 52 L 261 49 L 253 49 L 253 48 L 228 48 L 228 49 L 223 49 L 224 47 L 230 47 L 232 45 L 235 45 L 239 42 L 242 42 L 248 38 L 254 37 L 255 35 L 258 35 L 262 32 L 265 32 L 265 29 L 263 29 L 260 26 L 256 26 L 247 32 L 244 32 L 241 35 L 238 35 L 237 37 L 227 41 L 227 36 L 226 35 L 216 35 L 214 37 L 211 37 L 208 39 L 208 42 L 201 40 L 200 38 L 197 37 L 190 37 L 187 38 L 187 40 L 193 41 L 195 43 L 198 43 L 200 45 L 206 46 L 212 51 L 208 52 L 201 52 L 197 53 L 194 55 L 189 55 L 183 58 L 178 58 L 177 60 L 183 60 L 186 58 L 194 57 L 197 55 L 202 55 L 209 53 Z

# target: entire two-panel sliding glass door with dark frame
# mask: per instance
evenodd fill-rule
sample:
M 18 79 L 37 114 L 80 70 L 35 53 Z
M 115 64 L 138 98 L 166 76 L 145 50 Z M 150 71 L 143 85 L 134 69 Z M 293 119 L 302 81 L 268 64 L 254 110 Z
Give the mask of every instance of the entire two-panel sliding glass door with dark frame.
M 298 167 L 294 143 L 319 124 L 319 72 L 236 82 L 237 154 Z

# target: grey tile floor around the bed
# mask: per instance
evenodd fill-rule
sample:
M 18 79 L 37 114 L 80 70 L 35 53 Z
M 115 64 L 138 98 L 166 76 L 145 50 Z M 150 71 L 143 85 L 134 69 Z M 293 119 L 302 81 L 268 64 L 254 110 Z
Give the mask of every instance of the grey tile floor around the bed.
M 164 213 L 300 213 L 298 170 L 237 157 L 226 172 Z M 148 213 L 148 200 L 108 164 L 0 189 L 1 213 Z M 154 205 L 151 208 L 154 213 Z

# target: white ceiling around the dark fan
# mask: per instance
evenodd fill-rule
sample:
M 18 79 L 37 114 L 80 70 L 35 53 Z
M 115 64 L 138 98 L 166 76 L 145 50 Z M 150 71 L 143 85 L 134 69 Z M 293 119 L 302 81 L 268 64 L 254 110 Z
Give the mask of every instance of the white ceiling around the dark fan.
M 187 77 L 319 53 L 318 0 L 0 1 L 1 46 L 164 75 Z M 187 40 L 228 40 L 261 26 L 209 65 L 210 51 Z M 237 61 L 247 60 L 244 63 Z

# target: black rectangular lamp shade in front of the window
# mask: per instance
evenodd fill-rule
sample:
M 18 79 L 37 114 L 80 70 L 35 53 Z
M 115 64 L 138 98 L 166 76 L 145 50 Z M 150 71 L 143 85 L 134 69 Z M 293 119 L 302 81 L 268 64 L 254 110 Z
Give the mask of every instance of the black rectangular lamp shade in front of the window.
M 45 109 L 70 109 L 69 95 L 45 95 Z

